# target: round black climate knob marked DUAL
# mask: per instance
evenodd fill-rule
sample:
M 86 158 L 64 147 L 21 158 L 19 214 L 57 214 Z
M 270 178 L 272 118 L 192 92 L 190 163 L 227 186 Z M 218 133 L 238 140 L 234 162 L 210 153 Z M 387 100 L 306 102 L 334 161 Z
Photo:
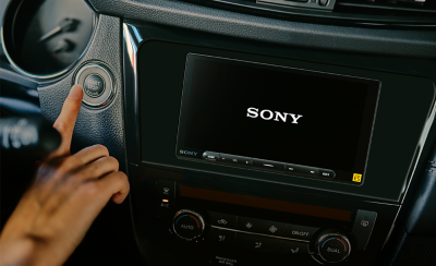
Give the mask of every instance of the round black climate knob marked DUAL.
M 351 244 L 349 239 L 337 231 L 320 233 L 316 242 L 317 255 L 326 263 L 340 263 L 349 257 Z

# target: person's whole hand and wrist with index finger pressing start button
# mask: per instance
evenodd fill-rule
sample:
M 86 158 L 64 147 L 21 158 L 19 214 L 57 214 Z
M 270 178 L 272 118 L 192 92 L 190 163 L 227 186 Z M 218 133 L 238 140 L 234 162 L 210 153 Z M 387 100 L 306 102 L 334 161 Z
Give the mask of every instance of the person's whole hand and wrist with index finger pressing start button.
M 129 194 L 128 178 L 105 146 L 70 154 L 82 97 L 82 87 L 73 86 L 53 124 L 62 143 L 41 164 L 0 234 L 0 266 L 63 264 L 108 201 L 121 204 Z

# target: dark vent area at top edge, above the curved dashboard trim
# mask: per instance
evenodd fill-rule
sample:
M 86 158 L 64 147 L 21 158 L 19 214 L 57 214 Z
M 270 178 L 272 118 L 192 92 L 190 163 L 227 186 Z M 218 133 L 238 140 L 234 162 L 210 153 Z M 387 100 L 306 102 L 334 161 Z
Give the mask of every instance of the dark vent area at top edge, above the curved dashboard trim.
M 436 0 L 183 0 L 289 21 L 368 27 L 436 27 Z

